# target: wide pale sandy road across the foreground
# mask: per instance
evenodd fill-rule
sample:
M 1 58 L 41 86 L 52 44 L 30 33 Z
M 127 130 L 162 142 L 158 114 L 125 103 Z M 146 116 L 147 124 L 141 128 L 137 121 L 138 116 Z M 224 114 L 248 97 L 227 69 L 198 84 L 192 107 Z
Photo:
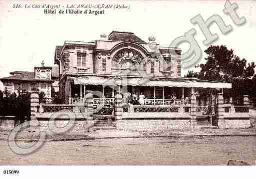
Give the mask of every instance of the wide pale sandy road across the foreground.
M 27 156 L 14 154 L 1 140 L 0 149 L 0 165 L 256 165 L 255 136 L 48 141 Z

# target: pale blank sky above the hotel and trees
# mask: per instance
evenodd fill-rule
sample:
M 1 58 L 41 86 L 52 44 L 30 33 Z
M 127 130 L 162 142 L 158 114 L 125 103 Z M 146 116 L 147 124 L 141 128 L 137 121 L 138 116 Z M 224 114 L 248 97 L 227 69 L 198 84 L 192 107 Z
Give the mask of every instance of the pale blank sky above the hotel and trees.
M 94 41 L 101 33 L 107 35 L 112 30 L 134 32 L 148 41 L 150 35 L 156 37 L 160 46 L 169 46 L 177 37 L 195 28 L 195 38 L 204 51 L 207 46 L 198 25 L 190 22 L 201 14 L 206 20 L 214 14 L 220 15 L 226 25 L 232 25 L 233 31 L 223 35 L 214 23 L 210 29 L 219 39 L 213 45 L 226 45 L 234 49 L 236 55 L 248 62 L 256 61 L 256 0 L 231 0 L 239 6 L 237 13 L 247 19 L 246 24 L 237 26 L 230 16 L 223 13 L 225 0 L 130 0 L 130 1 L 75 1 L 78 3 L 127 4 L 127 9 L 105 9 L 103 15 L 44 14 L 43 8 L 12 8 L 13 4 L 66 4 L 71 0 L 0 0 L 0 78 L 9 76 L 9 72 L 33 71 L 40 65 L 54 65 L 54 48 L 63 45 L 65 40 Z M 189 44 L 181 44 L 186 52 Z M 203 52 L 200 63 L 205 63 Z M 194 67 L 182 70 L 197 70 Z M 0 90 L 2 90 L 0 83 Z

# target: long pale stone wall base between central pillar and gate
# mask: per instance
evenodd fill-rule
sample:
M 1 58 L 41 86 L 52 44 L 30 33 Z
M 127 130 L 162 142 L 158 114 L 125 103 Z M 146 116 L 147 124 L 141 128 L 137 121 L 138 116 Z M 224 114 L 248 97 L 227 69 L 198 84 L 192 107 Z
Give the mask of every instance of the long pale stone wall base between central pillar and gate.
M 191 128 L 190 119 L 118 120 L 119 130 L 146 131 Z

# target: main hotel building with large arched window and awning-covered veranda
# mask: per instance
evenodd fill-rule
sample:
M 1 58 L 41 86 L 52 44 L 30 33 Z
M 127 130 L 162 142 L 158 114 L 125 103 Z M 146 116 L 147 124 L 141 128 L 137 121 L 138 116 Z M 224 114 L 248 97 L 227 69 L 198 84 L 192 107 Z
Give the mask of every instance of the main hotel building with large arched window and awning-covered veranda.
M 181 76 L 180 48 L 144 41 L 132 32 L 112 31 L 93 42 L 65 41 L 55 48 L 59 96 L 63 104 L 83 100 L 92 90 L 94 104 L 109 103 L 117 91 L 143 94 L 145 104 L 166 105 L 170 96 L 186 100 L 194 88 L 231 88 L 231 84 Z

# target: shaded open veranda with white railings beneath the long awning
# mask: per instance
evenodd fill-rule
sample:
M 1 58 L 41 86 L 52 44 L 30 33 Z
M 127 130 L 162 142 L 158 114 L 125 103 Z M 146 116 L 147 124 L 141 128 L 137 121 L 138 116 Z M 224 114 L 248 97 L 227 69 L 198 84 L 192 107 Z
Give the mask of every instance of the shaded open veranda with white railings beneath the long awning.
M 126 94 L 136 94 L 145 96 L 145 105 L 178 105 L 190 103 L 192 88 L 186 87 L 160 87 L 160 86 L 102 86 L 102 85 L 82 85 L 71 84 L 69 104 L 84 101 L 86 90 L 93 91 L 93 105 L 109 105 L 114 103 L 117 91 L 121 92 L 125 102 Z M 128 101 L 127 101 L 128 102 Z

